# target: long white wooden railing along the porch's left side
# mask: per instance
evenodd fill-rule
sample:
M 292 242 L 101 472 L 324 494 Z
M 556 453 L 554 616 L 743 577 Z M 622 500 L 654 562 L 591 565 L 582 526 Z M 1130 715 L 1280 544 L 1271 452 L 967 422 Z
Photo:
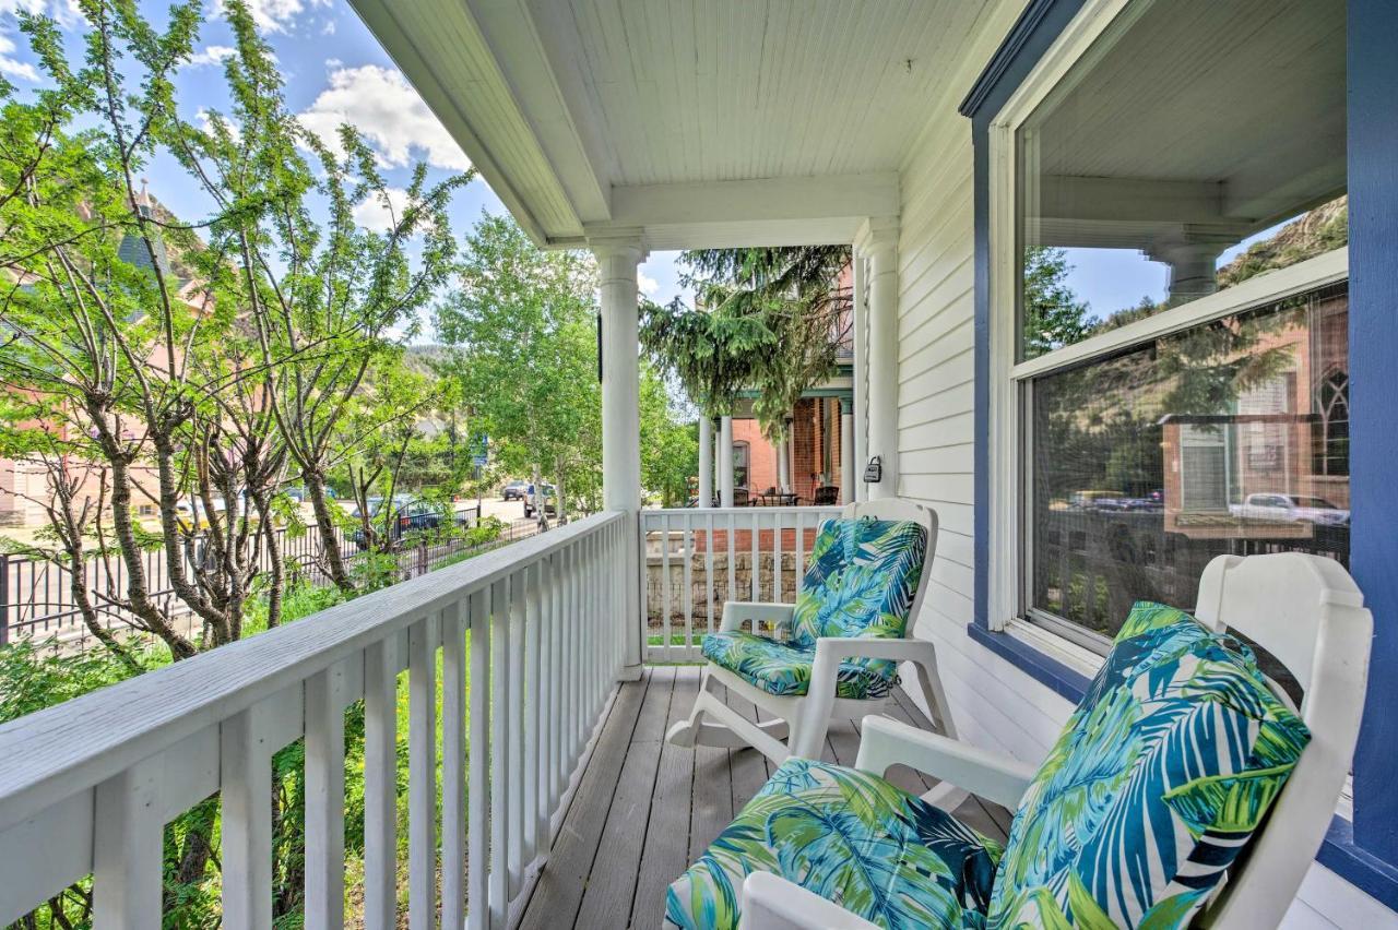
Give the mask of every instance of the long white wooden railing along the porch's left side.
M 632 539 L 590 517 L 4 725 L 0 923 L 91 876 L 96 927 L 158 927 L 164 825 L 217 792 L 222 926 L 270 927 L 271 757 L 303 737 L 305 923 L 343 926 L 344 712 L 363 698 L 363 922 L 393 927 L 405 669 L 410 924 L 440 905 L 443 926 L 505 927 L 622 665 Z

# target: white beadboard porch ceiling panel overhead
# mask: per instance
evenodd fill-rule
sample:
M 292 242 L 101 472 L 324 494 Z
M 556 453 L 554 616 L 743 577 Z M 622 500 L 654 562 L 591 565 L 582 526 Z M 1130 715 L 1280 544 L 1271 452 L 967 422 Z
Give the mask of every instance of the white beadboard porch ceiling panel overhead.
M 562 39 L 558 52 L 582 64 L 579 96 L 603 128 L 610 182 L 635 186 L 896 170 L 983 6 L 562 0 L 534 8 L 540 28 Z

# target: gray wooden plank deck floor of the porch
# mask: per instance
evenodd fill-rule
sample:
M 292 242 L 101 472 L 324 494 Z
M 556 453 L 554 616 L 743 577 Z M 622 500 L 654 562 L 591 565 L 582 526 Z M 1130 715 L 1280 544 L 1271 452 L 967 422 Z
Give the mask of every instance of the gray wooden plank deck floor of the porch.
M 657 927 L 665 887 L 696 859 L 766 781 L 772 765 L 752 748 L 679 748 L 665 730 L 688 715 L 699 691 L 699 666 L 653 666 L 624 684 L 612 702 L 591 761 L 573 795 L 552 856 L 534 887 L 521 926 Z M 899 694 L 893 716 L 927 728 Z M 752 714 L 751 704 L 730 697 Z M 854 764 L 856 721 L 839 721 L 825 758 Z M 910 769 L 889 778 L 907 790 L 928 790 Z M 956 815 L 1004 839 L 1009 815 L 974 797 Z

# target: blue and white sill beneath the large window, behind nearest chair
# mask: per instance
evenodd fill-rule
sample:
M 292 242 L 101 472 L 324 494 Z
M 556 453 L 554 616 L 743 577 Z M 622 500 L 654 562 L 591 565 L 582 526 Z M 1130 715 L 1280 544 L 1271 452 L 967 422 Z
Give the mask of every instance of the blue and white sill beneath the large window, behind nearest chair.
M 1085 667 L 1090 665 L 1090 659 L 1085 656 L 1097 658 L 1096 666 L 1100 667 L 1100 656 L 1030 624 L 1014 623 L 1004 633 L 991 633 L 979 623 L 972 623 L 966 627 L 966 633 L 976 642 L 1074 704 L 1086 694 L 1089 674 L 1093 673 Z M 1329 832 L 1316 860 L 1385 908 L 1398 910 L 1398 867 L 1357 846 L 1355 828 L 1345 817 L 1336 814 L 1331 821 Z

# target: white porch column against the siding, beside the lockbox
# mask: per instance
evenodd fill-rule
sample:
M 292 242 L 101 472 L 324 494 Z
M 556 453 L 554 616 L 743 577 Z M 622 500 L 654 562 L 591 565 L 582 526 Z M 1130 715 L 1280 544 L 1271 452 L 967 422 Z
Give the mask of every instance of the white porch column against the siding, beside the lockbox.
M 870 497 L 898 496 L 898 219 L 870 219 L 861 229 L 870 257 L 870 447 L 884 478 Z

